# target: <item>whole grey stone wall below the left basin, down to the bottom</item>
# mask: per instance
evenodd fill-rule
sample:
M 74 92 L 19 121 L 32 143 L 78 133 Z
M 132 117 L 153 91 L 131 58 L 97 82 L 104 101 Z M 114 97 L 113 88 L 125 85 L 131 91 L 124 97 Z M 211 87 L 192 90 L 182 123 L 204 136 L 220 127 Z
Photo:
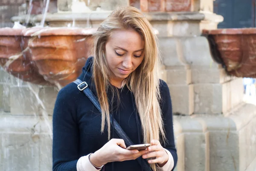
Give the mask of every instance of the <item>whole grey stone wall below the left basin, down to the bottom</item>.
M 52 170 L 52 110 L 58 90 L 0 68 L 0 171 Z

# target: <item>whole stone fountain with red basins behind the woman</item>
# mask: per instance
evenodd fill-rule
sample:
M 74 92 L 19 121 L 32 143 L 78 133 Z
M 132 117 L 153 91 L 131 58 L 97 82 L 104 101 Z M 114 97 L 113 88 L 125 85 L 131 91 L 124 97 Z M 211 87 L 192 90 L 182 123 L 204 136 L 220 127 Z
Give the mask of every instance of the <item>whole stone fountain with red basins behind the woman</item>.
M 255 171 L 256 104 L 243 101 L 239 78 L 254 74 L 243 69 L 254 64 L 253 31 L 218 30 L 223 17 L 213 13 L 213 0 L 49 2 L 48 10 L 12 17 L 32 28 L 0 29 L 0 168 L 52 170 L 58 90 L 81 72 L 99 23 L 116 6 L 131 5 L 158 32 L 174 113 L 175 171 Z

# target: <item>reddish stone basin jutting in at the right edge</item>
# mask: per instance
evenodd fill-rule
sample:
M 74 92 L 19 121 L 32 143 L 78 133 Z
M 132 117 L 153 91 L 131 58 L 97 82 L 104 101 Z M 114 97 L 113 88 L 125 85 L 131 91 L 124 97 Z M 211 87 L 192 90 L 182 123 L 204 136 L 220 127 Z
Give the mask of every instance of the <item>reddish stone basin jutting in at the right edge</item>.
M 256 28 L 203 30 L 203 35 L 229 75 L 256 78 Z

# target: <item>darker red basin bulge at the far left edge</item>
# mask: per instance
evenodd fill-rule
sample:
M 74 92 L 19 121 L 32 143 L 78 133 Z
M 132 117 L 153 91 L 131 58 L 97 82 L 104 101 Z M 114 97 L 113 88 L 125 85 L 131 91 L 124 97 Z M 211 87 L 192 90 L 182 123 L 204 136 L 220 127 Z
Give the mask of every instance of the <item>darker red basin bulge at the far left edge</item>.
M 28 41 L 22 31 L 23 29 L 0 29 L 0 65 L 6 72 L 23 81 L 42 85 L 49 84 L 31 62 L 27 49 Z

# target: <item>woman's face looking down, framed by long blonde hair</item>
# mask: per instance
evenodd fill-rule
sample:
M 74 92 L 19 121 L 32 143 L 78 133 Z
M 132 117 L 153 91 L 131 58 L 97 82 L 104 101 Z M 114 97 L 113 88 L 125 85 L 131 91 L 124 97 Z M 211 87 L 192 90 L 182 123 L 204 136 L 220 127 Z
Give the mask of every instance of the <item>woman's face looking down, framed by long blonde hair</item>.
M 105 55 L 111 70 L 111 82 L 120 84 L 143 61 L 143 38 L 133 30 L 115 30 L 106 43 Z

